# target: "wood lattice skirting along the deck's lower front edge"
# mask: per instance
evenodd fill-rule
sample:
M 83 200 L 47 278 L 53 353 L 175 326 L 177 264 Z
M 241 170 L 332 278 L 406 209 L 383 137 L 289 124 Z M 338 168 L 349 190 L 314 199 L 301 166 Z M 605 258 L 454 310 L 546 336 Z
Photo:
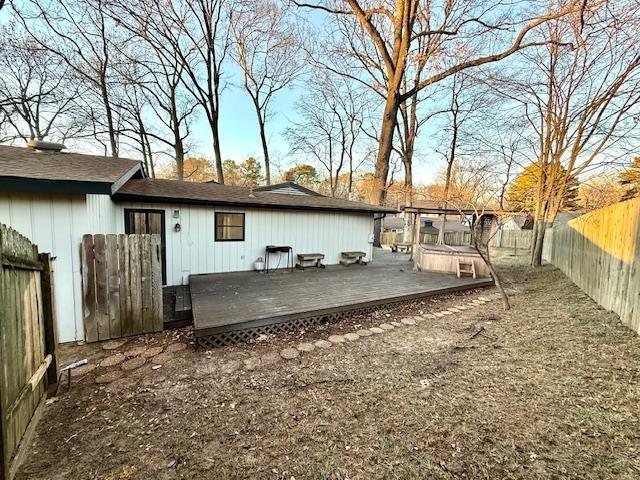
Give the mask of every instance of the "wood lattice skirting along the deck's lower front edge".
M 278 335 L 303 329 L 306 330 L 309 328 L 317 327 L 318 325 L 323 323 L 335 323 L 355 315 L 371 313 L 381 308 L 395 307 L 399 305 L 410 304 L 416 301 L 420 301 L 420 299 L 401 300 L 385 303 L 383 305 L 369 305 L 364 307 L 348 308 L 339 312 L 323 313 L 319 315 L 294 318 L 286 322 L 273 323 L 271 325 L 261 325 L 259 327 L 231 330 L 228 332 L 215 333 L 213 335 L 205 335 L 198 337 L 196 340 L 197 345 L 205 349 L 237 345 L 239 343 L 255 341 L 261 335 Z

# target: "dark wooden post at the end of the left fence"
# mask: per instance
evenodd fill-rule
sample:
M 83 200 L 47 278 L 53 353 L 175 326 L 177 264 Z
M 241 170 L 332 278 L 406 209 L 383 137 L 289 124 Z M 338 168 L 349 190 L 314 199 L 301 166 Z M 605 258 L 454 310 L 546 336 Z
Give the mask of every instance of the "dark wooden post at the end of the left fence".
M 45 356 L 51 355 L 51 364 L 47 369 L 47 385 L 51 392 L 58 383 L 58 327 L 56 320 L 55 285 L 53 281 L 53 260 L 50 253 L 41 253 L 39 260 L 42 263 L 42 310 L 44 327 Z

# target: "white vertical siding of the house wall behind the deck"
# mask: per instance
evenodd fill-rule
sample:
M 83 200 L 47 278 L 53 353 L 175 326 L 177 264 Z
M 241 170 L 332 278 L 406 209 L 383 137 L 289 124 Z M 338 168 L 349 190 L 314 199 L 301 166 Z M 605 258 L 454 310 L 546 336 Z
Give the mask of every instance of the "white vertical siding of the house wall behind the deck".
M 264 257 L 266 245 L 290 245 L 294 254 L 324 253 L 328 265 L 337 264 L 340 252 L 347 250 L 364 251 L 369 259 L 372 255 L 372 214 L 118 202 L 109 215 L 106 205 L 92 197 L 87 196 L 88 209 L 94 212 L 92 221 L 102 222 L 93 225 L 95 232 L 124 233 L 125 208 L 165 211 L 169 285 L 188 283 L 190 274 L 252 270 L 253 262 Z M 177 219 L 175 210 L 180 214 Z M 215 241 L 216 211 L 245 214 L 244 242 Z M 174 230 L 177 222 L 180 232 Z

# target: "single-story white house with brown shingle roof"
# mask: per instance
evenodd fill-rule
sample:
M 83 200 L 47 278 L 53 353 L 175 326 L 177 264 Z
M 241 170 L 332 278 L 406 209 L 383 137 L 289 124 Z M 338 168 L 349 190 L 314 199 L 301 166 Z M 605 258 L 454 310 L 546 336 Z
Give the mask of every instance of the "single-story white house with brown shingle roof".
M 157 233 L 163 284 L 198 273 L 247 271 L 267 245 L 293 253 L 372 256 L 374 217 L 390 210 L 295 184 L 250 191 L 148 178 L 136 160 L 0 146 L 0 223 L 56 257 L 58 336 L 83 340 L 80 245 L 85 234 Z M 292 191 L 293 190 L 293 191 Z

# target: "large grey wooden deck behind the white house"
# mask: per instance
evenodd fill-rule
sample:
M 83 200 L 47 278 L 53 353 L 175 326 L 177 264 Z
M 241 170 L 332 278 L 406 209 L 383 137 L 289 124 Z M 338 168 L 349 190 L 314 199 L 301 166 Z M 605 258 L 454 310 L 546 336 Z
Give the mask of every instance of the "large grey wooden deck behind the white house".
M 196 337 L 493 285 L 411 271 L 408 255 L 376 249 L 369 265 L 191 275 Z

